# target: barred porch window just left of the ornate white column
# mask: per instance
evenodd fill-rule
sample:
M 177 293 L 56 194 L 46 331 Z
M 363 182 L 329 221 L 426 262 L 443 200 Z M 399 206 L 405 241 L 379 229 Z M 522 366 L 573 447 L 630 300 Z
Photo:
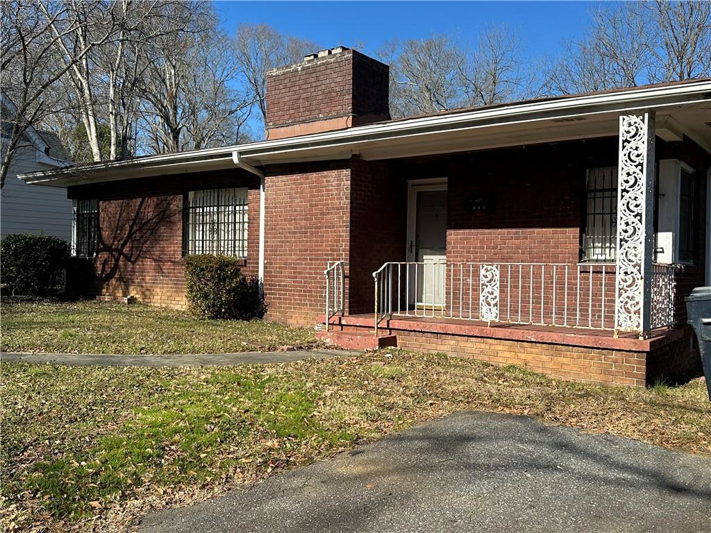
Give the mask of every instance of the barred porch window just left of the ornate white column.
M 614 261 L 617 247 L 617 167 L 589 168 L 585 195 L 582 259 L 589 262 Z

